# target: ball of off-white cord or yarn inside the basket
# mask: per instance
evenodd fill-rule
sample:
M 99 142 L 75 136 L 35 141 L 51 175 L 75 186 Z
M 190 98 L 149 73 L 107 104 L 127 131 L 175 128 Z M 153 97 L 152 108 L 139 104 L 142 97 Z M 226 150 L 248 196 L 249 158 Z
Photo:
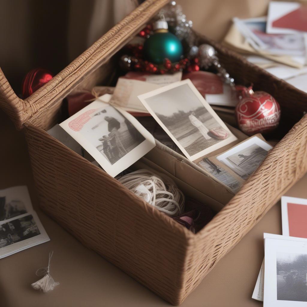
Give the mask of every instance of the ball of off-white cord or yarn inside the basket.
M 139 169 L 122 176 L 118 181 L 169 216 L 177 216 L 183 212 L 185 196 L 166 175 L 159 176 L 147 169 Z

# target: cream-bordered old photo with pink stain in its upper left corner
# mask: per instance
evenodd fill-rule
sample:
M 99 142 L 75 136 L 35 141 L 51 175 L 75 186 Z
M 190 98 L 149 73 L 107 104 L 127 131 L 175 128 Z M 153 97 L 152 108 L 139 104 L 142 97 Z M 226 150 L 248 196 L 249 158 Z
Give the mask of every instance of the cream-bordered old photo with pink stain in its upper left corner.
M 60 126 L 115 177 L 156 144 L 132 115 L 111 106 L 110 98 L 109 94 L 99 97 Z

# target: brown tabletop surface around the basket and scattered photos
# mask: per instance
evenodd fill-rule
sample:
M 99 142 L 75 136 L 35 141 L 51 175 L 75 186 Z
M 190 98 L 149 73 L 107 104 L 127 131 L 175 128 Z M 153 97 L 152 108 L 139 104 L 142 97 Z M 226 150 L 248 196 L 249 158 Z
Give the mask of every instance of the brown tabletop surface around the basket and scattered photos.
M 0 188 L 28 185 L 34 208 L 50 241 L 0 260 L 0 306 L 91 307 L 170 306 L 133 278 L 84 247 L 37 206 L 26 143 L 0 111 Z M 307 198 L 307 175 L 286 195 Z M 262 306 L 251 299 L 263 259 L 263 232 L 281 234 L 280 203 L 233 248 L 192 292 L 183 307 Z M 54 251 L 51 275 L 60 285 L 49 293 L 31 288 L 35 271 Z

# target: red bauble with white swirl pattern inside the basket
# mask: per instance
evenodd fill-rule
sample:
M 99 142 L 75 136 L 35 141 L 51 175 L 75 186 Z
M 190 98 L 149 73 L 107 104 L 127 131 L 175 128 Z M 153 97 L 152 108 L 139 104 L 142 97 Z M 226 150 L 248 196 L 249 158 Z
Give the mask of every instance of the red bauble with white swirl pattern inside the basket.
M 240 129 L 248 134 L 268 132 L 278 126 L 280 106 L 264 91 L 237 86 L 240 101 L 235 108 L 235 117 Z

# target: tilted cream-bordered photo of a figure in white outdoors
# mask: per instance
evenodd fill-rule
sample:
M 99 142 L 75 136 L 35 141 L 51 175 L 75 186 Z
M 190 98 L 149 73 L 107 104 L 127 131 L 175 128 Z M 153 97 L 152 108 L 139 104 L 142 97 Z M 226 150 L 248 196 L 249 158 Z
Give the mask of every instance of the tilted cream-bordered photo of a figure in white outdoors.
M 237 140 L 189 79 L 138 98 L 190 161 Z

